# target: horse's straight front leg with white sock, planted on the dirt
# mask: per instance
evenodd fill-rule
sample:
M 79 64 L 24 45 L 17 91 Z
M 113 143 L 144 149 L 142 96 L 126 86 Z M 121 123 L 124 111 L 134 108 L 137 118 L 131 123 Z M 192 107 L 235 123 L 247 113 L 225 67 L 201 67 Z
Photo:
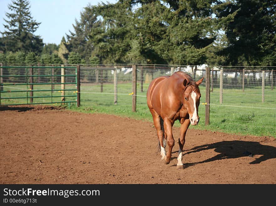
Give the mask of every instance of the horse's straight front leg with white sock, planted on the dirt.
M 190 125 L 190 119 L 184 119 L 182 118 L 180 120 L 180 138 L 178 139 L 178 144 L 179 144 L 179 151 L 178 151 L 178 157 L 177 157 L 177 169 L 183 169 L 183 163 L 182 163 L 182 152 L 183 152 L 183 146 L 185 144 L 185 136 L 187 129 Z

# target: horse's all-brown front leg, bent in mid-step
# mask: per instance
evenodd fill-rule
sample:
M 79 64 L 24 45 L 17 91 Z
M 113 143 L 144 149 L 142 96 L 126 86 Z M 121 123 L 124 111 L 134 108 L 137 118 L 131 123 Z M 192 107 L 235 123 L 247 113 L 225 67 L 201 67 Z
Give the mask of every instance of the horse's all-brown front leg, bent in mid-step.
M 167 135 L 167 145 L 168 145 L 168 152 L 164 158 L 166 164 L 169 164 L 172 157 L 172 149 L 174 146 L 174 139 L 173 139 L 173 124 L 170 119 L 164 119 L 164 130 L 165 134 Z

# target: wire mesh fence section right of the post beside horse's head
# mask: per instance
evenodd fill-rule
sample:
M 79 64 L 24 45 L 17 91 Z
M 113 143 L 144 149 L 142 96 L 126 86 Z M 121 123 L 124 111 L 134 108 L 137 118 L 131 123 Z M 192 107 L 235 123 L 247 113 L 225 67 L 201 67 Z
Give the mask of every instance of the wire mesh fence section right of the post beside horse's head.
M 211 68 L 210 125 L 276 136 L 275 68 L 253 69 Z

